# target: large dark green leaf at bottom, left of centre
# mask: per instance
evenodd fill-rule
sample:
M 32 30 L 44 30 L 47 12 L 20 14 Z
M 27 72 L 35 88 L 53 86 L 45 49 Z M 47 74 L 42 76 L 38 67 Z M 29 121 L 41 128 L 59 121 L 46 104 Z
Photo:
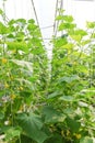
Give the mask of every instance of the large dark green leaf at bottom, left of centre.
M 17 116 L 17 121 L 27 136 L 35 140 L 37 143 L 43 143 L 48 138 L 48 135 L 41 131 L 43 122 L 40 117 L 34 113 L 21 113 Z

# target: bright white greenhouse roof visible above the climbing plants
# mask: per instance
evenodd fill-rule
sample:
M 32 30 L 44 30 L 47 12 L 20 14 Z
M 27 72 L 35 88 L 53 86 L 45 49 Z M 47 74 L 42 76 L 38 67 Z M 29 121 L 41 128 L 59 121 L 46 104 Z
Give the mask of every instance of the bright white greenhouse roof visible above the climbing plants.
M 95 20 L 95 0 L 0 0 L 0 8 L 3 7 L 9 19 L 34 19 L 48 51 L 51 50 L 48 45 L 51 36 L 57 35 L 57 9 L 72 14 L 81 28 L 84 28 L 85 21 Z

